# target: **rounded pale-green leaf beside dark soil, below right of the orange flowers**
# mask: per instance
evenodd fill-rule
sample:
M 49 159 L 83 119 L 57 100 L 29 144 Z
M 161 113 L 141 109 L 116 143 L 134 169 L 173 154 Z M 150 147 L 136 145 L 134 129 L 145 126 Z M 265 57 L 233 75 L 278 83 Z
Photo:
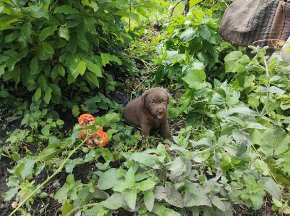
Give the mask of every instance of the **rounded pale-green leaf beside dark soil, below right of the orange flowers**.
M 114 187 L 117 183 L 119 183 L 119 172 L 115 168 L 111 168 L 106 172 L 102 173 L 98 180 L 98 188 L 101 190 L 107 190 Z

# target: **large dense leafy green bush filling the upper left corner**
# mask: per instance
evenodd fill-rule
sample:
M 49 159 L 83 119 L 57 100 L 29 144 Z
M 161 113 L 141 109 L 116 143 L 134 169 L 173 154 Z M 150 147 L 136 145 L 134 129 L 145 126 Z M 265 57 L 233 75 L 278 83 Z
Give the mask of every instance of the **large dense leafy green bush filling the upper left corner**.
M 104 67 L 121 65 L 122 48 L 132 39 L 121 19 L 129 1 L 0 4 L 0 97 L 6 103 L 25 95 L 48 113 L 55 104 L 72 108 L 64 100 L 106 85 Z

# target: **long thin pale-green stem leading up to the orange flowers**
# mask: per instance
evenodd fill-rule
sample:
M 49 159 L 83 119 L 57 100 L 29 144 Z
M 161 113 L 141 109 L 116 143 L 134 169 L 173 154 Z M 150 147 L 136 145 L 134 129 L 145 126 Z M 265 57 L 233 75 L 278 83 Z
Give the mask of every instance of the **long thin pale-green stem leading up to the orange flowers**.
M 73 153 L 78 150 L 84 143 L 85 143 L 86 139 L 79 144 L 76 148 L 74 148 L 68 155 L 68 157 L 64 160 L 64 162 L 60 165 L 60 167 L 58 167 L 58 169 L 50 176 L 48 177 L 45 181 L 43 181 L 41 184 L 39 184 L 36 189 L 27 197 L 25 198 L 22 202 L 20 202 L 17 206 L 16 209 L 13 210 L 13 212 L 10 213 L 9 216 L 13 216 L 19 209 L 20 207 L 28 200 L 30 199 L 34 194 L 36 194 L 36 192 L 38 190 L 40 190 L 40 188 L 42 188 L 48 181 L 50 181 L 57 173 L 59 173 L 65 166 L 66 162 L 68 161 L 68 159 L 73 155 Z

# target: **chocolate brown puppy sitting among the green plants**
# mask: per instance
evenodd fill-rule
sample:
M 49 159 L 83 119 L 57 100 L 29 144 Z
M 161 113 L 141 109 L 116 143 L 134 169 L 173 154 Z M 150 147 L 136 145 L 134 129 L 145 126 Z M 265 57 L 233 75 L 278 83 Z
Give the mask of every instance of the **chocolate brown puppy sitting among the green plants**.
M 173 142 L 167 119 L 169 97 L 170 94 L 162 88 L 146 90 L 125 106 L 123 115 L 126 122 L 141 127 L 143 139 L 149 136 L 151 129 L 160 128 L 164 138 Z

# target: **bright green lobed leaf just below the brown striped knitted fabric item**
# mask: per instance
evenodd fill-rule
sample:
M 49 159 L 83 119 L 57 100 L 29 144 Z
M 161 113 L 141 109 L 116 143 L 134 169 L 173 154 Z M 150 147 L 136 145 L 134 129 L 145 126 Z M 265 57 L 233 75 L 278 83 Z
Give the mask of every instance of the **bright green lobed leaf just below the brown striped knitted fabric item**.
M 225 72 L 244 72 L 250 58 L 241 51 L 234 51 L 224 57 Z

